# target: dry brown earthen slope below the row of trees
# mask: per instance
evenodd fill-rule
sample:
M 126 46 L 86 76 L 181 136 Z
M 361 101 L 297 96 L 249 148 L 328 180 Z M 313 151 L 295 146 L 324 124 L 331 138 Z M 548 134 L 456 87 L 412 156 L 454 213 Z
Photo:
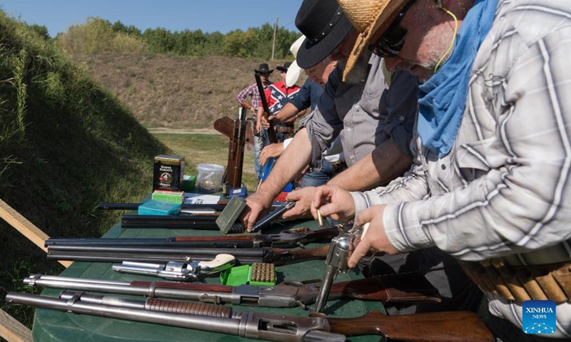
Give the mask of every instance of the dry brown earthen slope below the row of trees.
M 89 76 L 116 94 L 142 125 L 185 130 L 212 128 L 214 120 L 236 115 L 236 95 L 255 81 L 253 70 L 260 64 L 244 58 L 142 53 L 76 60 Z M 268 63 L 275 69 L 284 62 Z M 270 79 L 279 81 L 279 73 L 274 71 Z

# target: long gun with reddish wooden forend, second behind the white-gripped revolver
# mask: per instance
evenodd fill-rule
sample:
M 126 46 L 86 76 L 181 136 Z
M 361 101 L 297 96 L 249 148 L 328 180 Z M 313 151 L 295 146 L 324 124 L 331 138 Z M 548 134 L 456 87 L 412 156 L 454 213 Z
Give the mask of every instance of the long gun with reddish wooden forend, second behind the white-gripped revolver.
M 330 240 L 338 235 L 337 227 L 309 230 L 307 227 L 284 230 L 278 234 L 168 237 L 166 239 L 106 239 L 106 238 L 54 238 L 44 243 L 50 246 L 145 246 L 145 247 L 216 247 L 216 248 L 290 248 L 303 247 L 316 241 Z

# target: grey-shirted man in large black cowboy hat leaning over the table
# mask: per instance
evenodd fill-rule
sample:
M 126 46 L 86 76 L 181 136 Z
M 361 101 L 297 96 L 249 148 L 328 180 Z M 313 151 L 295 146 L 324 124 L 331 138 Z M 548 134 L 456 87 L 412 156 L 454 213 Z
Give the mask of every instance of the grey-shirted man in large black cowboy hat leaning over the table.
M 348 76 L 348 83 L 343 83 L 344 62 L 350 56 L 358 32 L 333 0 L 303 1 L 295 25 L 308 37 L 296 58 L 301 68 L 312 73 L 322 67 L 322 61 L 327 63 L 330 59 L 338 59 L 340 66 L 331 73 L 318 108 L 300 123 L 300 131 L 266 182 L 248 197 L 249 210 L 243 214 L 243 223 L 248 228 L 268 210 L 284 181 L 308 164 L 320 167 L 321 152 L 338 135 L 341 135 L 349 168 L 328 184 L 347 191 L 370 190 L 402 175 L 412 164 L 410 140 L 417 106 L 416 78 L 408 72 L 397 71 L 390 80 L 385 80 L 382 59 L 368 53 L 356 63 L 358 72 Z M 386 85 L 389 81 L 390 89 Z M 288 200 L 295 200 L 297 204 L 290 212 L 308 212 L 314 193 L 315 188 L 310 187 L 291 192 Z M 295 217 L 295 214 L 286 212 L 283 216 Z M 478 294 L 473 295 L 475 286 L 460 266 L 437 249 L 411 254 L 410 258 L 384 260 L 395 271 L 423 271 L 441 291 L 442 309 L 473 309 L 473 304 L 477 309 L 480 304 Z M 454 276 L 449 278 L 449 274 Z M 403 314 L 438 308 L 408 306 L 403 309 L 395 308 L 391 312 Z

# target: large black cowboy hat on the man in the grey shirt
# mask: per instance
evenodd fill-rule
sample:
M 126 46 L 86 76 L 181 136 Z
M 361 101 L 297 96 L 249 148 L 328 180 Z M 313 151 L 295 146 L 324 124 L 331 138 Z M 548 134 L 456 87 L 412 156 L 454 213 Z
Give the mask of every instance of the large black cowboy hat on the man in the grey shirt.
M 335 0 L 304 0 L 295 26 L 307 37 L 295 57 L 304 69 L 323 61 L 353 28 Z

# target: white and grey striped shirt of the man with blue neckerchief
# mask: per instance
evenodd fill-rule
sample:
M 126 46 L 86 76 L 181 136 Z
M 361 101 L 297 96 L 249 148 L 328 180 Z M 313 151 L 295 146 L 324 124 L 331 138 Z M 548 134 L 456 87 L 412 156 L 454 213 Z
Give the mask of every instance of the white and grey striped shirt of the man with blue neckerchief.
M 388 187 L 352 193 L 357 212 L 389 203 L 385 232 L 402 252 L 437 246 L 467 261 L 571 260 L 570 56 L 571 1 L 500 0 L 453 150 L 438 158 L 417 137 L 413 169 Z M 487 295 L 492 314 L 521 326 L 520 304 Z M 556 311 L 551 336 L 571 338 L 571 303 Z

